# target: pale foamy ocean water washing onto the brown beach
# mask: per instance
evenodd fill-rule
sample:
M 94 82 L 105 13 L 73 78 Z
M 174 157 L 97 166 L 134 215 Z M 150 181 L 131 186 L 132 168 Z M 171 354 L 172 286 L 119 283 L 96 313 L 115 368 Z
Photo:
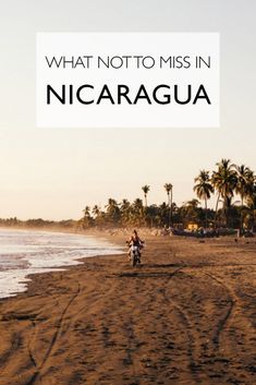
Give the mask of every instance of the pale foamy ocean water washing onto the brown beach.
M 0 229 L 0 298 L 26 290 L 28 274 L 78 265 L 81 257 L 120 254 L 106 240 L 62 232 Z

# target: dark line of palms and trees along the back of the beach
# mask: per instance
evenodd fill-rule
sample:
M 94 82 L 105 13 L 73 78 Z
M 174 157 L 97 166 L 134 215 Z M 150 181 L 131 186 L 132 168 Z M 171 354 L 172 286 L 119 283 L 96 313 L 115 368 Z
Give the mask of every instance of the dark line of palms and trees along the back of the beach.
M 110 197 L 105 207 L 86 206 L 77 225 L 88 227 L 186 227 L 193 222 L 199 227 L 228 227 L 252 229 L 256 214 L 256 176 L 245 165 L 234 165 L 221 159 L 214 171 L 200 170 L 194 179 L 196 197 L 180 207 L 173 202 L 173 185 L 166 183 L 167 201 L 148 205 L 150 187 L 142 187 L 144 201 L 139 197 L 121 202 Z M 216 207 L 208 201 L 216 196 Z M 234 200 L 236 198 L 236 201 Z

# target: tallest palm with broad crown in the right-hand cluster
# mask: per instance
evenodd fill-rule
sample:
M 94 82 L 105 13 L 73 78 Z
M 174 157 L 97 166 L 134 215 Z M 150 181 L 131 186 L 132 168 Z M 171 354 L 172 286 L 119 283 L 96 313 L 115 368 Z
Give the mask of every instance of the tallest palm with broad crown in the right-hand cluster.
M 232 197 L 234 196 L 234 190 L 237 181 L 234 165 L 230 161 L 230 159 L 221 159 L 221 161 L 217 164 L 217 171 L 214 171 L 211 176 L 211 183 L 218 193 L 215 221 L 217 221 L 218 204 L 220 197 L 222 197 L 225 225 L 228 225 L 229 221 L 229 208 L 231 206 Z

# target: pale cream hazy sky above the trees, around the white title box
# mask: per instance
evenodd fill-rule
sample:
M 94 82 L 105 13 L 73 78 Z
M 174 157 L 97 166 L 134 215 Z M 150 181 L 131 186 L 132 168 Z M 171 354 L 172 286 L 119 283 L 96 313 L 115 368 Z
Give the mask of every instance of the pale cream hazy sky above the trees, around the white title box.
M 194 197 L 221 158 L 256 170 L 255 0 L 0 0 L 0 217 L 80 218 L 108 197 Z M 220 128 L 36 128 L 37 32 L 219 32 Z M 214 201 L 212 201 L 214 204 Z

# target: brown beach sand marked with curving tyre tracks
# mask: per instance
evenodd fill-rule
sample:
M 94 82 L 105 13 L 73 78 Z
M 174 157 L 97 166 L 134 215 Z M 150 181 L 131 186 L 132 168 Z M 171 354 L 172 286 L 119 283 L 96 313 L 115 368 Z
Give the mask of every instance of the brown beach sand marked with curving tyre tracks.
M 0 384 L 254 385 L 255 272 L 254 239 L 148 237 L 137 268 L 34 276 L 0 301 Z

